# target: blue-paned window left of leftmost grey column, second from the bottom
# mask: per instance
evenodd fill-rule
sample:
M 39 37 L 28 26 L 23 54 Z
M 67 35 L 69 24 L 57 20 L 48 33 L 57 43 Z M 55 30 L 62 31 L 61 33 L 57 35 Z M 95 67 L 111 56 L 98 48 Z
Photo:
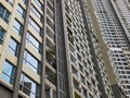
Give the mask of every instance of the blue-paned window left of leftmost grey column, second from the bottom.
M 14 40 L 13 38 L 10 39 L 10 44 L 9 44 L 9 50 L 10 52 L 12 52 L 14 56 L 17 57 L 18 54 L 18 48 L 20 48 L 20 45 L 16 40 Z

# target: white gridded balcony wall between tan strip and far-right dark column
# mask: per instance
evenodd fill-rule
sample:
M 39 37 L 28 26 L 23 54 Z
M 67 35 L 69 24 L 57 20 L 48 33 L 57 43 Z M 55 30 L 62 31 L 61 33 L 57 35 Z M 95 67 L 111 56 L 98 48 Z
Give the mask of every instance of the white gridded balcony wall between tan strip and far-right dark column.
M 128 59 L 125 56 L 125 51 L 129 52 L 129 42 L 128 42 L 129 36 L 126 34 L 128 32 L 125 30 L 123 28 L 125 25 L 122 23 L 120 25 L 121 21 L 119 21 L 117 17 L 119 12 L 113 9 L 113 5 L 110 2 L 114 5 L 113 0 L 106 0 L 106 1 L 93 0 L 93 8 L 94 8 L 96 20 L 99 22 L 98 24 L 100 26 L 101 36 L 103 38 L 105 46 L 107 47 L 106 48 L 106 51 L 108 54 L 107 60 L 109 59 L 110 61 L 109 65 L 112 65 L 113 73 L 116 75 L 117 83 L 116 81 L 112 79 L 112 84 L 113 82 L 116 83 L 113 85 L 114 95 L 115 97 L 117 96 L 119 98 L 118 94 L 120 94 L 120 98 L 121 97 L 123 98 L 123 95 L 129 97 L 129 93 L 127 91 L 129 90 L 129 88 L 126 87 L 126 86 L 129 86 L 129 84 L 127 84 L 127 82 L 129 81 L 129 63 L 128 63 Z M 118 1 L 115 1 L 115 2 L 118 2 Z M 121 7 L 127 8 L 127 5 L 120 5 L 120 8 Z M 117 9 L 118 7 L 114 5 L 114 8 Z M 123 9 L 123 11 L 127 11 L 127 10 Z M 115 56 L 115 52 L 116 54 L 118 54 L 118 57 Z M 109 75 L 112 75 L 112 73 L 109 73 Z M 116 87 L 117 85 L 118 87 Z

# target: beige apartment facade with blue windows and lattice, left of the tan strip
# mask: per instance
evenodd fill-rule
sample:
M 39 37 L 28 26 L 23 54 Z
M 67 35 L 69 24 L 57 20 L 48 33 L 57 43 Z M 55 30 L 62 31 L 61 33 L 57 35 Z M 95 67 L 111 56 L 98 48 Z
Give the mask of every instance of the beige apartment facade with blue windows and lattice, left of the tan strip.
M 0 96 L 114 98 L 88 8 L 86 0 L 1 0 Z M 114 39 L 120 38 L 128 50 L 120 29 L 117 33 Z

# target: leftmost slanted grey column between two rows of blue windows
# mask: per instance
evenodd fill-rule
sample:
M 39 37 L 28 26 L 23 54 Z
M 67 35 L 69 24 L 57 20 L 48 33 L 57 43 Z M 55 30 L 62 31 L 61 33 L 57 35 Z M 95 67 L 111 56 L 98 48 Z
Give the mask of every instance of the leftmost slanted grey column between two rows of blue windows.
M 23 57 L 24 57 L 25 42 L 26 42 L 25 39 L 26 39 L 26 33 L 27 33 L 27 27 L 28 27 L 30 2 L 31 2 L 31 0 L 28 0 L 26 17 L 25 17 L 25 24 L 24 24 L 24 32 L 23 32 L 23 36 L 22 36 L 20 57 L 18 57 L 18 60 L 17 60 L 17 68 L 16 68 L 16 75 L 15 75 L 15 82 L 14 82 L 13 98 L 18 98 L 20 79 L 21 79 Z

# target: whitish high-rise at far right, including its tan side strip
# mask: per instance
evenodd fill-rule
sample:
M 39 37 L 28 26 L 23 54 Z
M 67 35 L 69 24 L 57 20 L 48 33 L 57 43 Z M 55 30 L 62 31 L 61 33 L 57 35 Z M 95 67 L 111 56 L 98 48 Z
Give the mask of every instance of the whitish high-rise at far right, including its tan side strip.
M 129 0 L 92 0 L 89 3 L 94 9 L 90 8 L 90 13 L 91 17 L 95 17 L 93 23 L 96 33 L 99 33 L 96 34 L 98 39 L 106 47 L 106 49 L 101 47 L 102 52 L 105 50 L 108 56 L 103 54 L 103 58 L 110 62 L 106 70 L 110 77 L 114 95 L 116 98 L 129 98 L 130 2 Z M 112 78 L 113 76 L 115 78 Z

